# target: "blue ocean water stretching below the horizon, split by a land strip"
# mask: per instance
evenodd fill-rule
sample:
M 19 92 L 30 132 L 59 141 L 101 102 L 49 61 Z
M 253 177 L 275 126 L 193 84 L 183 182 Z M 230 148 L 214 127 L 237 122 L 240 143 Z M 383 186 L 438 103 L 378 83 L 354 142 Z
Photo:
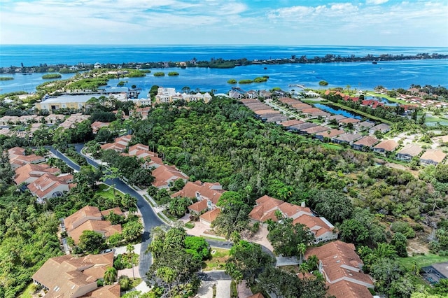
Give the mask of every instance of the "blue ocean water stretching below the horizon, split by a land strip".
M 113 45 L 0 45 L 0 66 L 10 66 L 23 63 L 25 66 L 38 64 L 78 64 L 83 63 L 122 63 L 122 62 L 167 62 L 186 61 L 195 57 L 198 60 L 211 58 L 237 59 L 276 59 L 296 55 L 298 57 L 324 56 L 326 54 L 348 57 L 367 54 L 381 55 L 416 55 L 427 52 L 433 54 L 448 54 L 448 48 L 385 48 L 385 47 L 335 47 L 335 46 L 113 46 Z M 266 69 L 265 69 L 266 68 Z M 234 69 L 205 68 L 167 68 L 153 69 L 155 71 L 177 71 L 176 77 L 154 77 L 152 73 L 144 78 L 126 78 L 127 86 L 137 85 L 141 88 L 141 96 L 146 94 L 153 85 L 175 87 L 181 90 L 188 86 L 191 90 L 228 92 L 232 86 L 243 90 L 271 89 L 281 87 L 283 90 L 297 89 L 290 84 L 305 85 L 305 87 L 320 88 L 318 82 L 326 80 L 328 87 L 346 87 L 359 90 L 372 89 L 383 85 L 388 89 L 408 88 L 415 85 L 442 85 L 448 87 L 448 59 L 421 59 L 391 62 L 346 62 L 322 64 L 281 64 L 238 66 Z M 13 76 L 14 80 L 0 81 L 0 93 L 24 90 L 34 92 L 37 85 L 45 80 L 43 73 L 0 74 Z M 63 75 L 63 78 L 72 76 Z M 236 80 L 253 79 L 258 76 L 269 76 L 265 83 L 248 85 L 230 85 L 230 78 Z M 120 79 L 123 80 L 123 79 Z M 120 80 L 109 80 L 109 87 L 117 85 Z

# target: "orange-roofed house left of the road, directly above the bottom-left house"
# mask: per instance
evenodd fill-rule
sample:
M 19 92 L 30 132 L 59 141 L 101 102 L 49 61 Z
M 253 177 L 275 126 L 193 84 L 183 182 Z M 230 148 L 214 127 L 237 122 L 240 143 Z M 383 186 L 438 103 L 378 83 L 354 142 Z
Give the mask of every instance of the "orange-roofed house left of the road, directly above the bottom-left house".
M 112 225 L 111 222 L 103 220 L 109 213 L 123 216 L 120 208 L 112 208 L 105 211 L 99 211 L 98 207 L 85 206 L 72 215 L 64 218 L 64 227 L 67 235 L 73 238 L 75 244 L 79 243 L 79 237 L 84 231 L 94 231 L 102 234 L 105 238 L 113 234 L 121 234 L 121 225 Z

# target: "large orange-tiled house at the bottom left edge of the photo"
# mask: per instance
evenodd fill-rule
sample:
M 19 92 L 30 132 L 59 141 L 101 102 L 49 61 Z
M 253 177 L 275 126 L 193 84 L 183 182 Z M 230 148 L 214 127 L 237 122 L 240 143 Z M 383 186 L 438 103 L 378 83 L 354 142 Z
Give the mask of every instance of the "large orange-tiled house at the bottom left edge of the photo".
M 97 280 L 104 278 L 109 267 L 113 267 L 113 252 L 85 257 L 63 255 L 48 259 L 32 278 L 34 283 L 45 289 L 45 298 L 118 298 L 120 284 L 102 288 L 97 285 Z M 105 295 L 101 296 L 101 293 Z

